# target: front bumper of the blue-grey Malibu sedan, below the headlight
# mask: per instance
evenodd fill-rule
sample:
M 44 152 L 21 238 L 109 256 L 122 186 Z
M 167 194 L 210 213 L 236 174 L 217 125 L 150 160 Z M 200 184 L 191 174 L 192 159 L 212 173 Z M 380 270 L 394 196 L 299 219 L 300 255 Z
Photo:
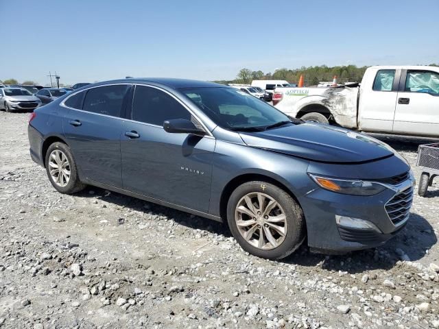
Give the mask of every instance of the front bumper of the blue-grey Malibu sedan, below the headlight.
M 414 179 L 410 178 L 370 197 L 343 195 L 316 187 L 299 200 L 307 221 L 309 247 L 324 252 L 350 252 L 383 245 L 407 224 L 413 185 Z M 395 212 L 396 208 L 388 205 L 400 199 L 401 212 Z M 337 223 L 336 217 L 368 221 L 375 229 L 343 226 Z

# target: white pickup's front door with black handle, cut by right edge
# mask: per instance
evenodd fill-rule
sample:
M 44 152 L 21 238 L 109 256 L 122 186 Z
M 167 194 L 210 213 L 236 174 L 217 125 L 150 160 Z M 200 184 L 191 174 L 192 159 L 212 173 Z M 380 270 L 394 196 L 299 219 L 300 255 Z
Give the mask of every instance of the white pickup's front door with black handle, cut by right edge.
M 395 133 L 439 136 L 439 73 L 403 70 L 393 125 Z

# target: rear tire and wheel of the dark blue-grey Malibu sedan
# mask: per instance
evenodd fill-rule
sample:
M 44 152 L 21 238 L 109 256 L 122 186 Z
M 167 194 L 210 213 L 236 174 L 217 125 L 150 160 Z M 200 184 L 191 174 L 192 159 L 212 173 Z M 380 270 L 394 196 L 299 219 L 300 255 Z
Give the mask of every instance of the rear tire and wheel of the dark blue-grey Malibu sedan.
M 57 157 L 57 155 L 59 157 Z M 65 161 L 67 159 L 67 164 Z M 60 166 L 58 164 L 62 163 Z M 75 159 L 71 154 L 70 148 L 64 143 L 55 142 L 49 146 L 46 152 L 45 166 L 47 176 L 56 189 L 56 191 L 64 194 L 77 193 L 85 188 L 78 175 Z M 57 169 L 58 166 L 58 169 Z M 62 173 L 59 171 L 62 167 Z M 52 175 L 52 173 L 54 173 Z M 56 173 L 58 171 L 58 175 Z M 69 179 L 67 180 L 67 173 L 69 172 Z

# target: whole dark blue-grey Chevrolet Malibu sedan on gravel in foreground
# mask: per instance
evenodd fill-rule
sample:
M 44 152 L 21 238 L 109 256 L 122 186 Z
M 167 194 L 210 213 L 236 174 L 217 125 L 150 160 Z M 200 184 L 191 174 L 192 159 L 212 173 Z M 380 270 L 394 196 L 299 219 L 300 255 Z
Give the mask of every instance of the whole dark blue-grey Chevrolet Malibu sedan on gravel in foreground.
M 382 245 L 410 215 L 412 171 L 388 145 L 211 82 L 91 84 L 38 108 L 28 131 L 60 193 L 90 184 L 224 221 L 263 258 L 305 238 L 320 252 Z

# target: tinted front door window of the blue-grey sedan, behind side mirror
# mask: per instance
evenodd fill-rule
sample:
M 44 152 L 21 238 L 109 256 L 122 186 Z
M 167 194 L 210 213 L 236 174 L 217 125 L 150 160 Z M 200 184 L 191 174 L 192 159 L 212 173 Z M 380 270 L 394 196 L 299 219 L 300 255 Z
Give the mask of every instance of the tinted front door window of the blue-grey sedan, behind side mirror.
M 191 120 L 191 113 L 174 97 L 152 87 L 136 86 L 132 101 L 132 120 L 163 126 L 171 119 Z

